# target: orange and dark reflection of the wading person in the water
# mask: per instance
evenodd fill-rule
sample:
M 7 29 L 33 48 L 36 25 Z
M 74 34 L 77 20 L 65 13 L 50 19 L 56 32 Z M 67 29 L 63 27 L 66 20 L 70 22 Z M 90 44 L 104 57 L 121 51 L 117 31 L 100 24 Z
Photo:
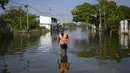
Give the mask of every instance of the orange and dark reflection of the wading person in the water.
M 60 61 L 58 61 L 58 64 L 59 64 L 59 70 L 61 73 L 67 72 L 69 70 L 70 63 L 68 63 L 67 54 L 60 55 Z

